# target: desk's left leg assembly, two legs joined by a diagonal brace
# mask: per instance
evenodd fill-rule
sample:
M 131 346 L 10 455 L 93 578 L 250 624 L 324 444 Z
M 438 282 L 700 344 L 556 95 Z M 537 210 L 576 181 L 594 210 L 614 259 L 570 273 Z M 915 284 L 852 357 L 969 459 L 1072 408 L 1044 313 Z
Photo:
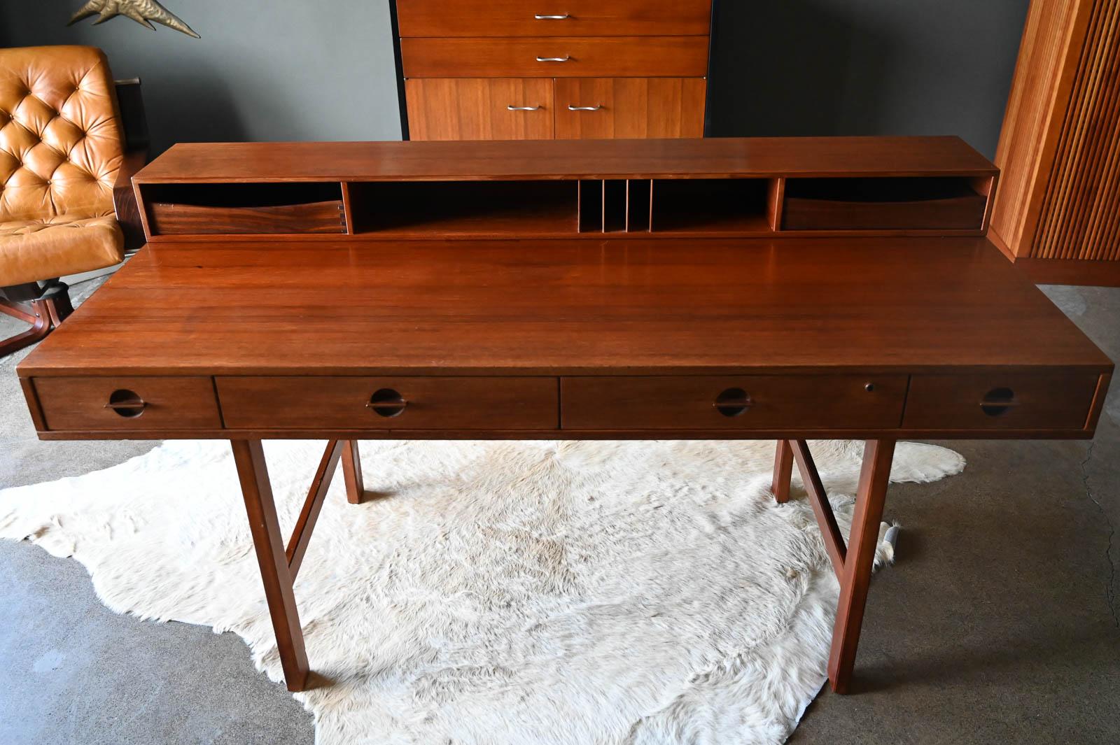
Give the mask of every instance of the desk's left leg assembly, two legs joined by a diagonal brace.
M 339 460 L 343 462 L 347 500 L 352 503 L 362 501 L 364 491 L 357 442 L 332 440 L 327 443 L 287 548 L 280 532 L 280 521 L 277 518 L 272 484 L 269 481 L 261 441 L 231 440 L 230 444 L 233 447 L 233 460 L 237 465 L 242 496 L 245 498 L 245 512 L 249 515 L 249 528 L 253 535 L 256 560 L 261 566 L 264 596 L 269 603 L 269 614 L 272 616 L 272 629 L 277 635 L 283 677 L 288 690 L 305 690 L 310 668 L 304 649 L 304 632 L 299 625 L 293 584 Z

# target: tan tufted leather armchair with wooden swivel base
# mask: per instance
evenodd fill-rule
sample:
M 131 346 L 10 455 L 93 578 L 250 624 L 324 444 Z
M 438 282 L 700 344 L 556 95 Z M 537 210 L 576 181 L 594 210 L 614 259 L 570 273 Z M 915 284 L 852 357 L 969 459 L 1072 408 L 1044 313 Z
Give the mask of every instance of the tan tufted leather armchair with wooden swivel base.
M 118 215 L 136 216 L 130 181 L 147 148 L 127 152 L 122 129 L 100 49 L 0 49 L 0 312 L 32 324 L 0 341 L 0 357 L 71 312 L 57 277 L 124 258 Z

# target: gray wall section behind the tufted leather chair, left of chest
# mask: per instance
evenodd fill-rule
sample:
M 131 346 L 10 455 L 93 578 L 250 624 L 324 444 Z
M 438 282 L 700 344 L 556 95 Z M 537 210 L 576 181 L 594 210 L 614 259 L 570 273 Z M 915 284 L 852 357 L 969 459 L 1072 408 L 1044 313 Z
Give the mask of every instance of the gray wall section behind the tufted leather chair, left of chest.
M 0 0 L 7 46 L 88 44 L 140 77 L 155 152 L 215 140 L 398 140 L 385 0 L 161 0 L 202 39 L 128 18 L 66 21 L 84 0 Z

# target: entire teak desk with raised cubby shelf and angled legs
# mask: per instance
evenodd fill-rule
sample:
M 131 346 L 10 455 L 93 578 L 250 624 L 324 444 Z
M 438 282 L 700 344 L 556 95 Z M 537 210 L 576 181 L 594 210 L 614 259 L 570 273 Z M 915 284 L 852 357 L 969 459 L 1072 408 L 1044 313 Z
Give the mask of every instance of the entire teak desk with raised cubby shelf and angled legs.
M 1112 362 L 983 237 L 955 138 L 176 145 L 149 245 L 18 368 L 39 436 L 228 438 L 288 688 L 362 437 L 777 438 L 850 682 L 899 437 L 1091 437 Z M 276 235 L 262 235 L 262 234 Z M 261 440 L 329 438 L 286 546 Z M 808 438 L 867 441 L 844 541 Z

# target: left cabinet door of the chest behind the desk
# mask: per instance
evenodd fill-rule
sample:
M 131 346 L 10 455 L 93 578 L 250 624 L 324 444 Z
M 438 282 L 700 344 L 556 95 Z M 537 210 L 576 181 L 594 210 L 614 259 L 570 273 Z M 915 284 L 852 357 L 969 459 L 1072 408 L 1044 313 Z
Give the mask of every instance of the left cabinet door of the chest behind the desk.
M 551 140 L 550 78 L 410 78 L 413 140 Z

